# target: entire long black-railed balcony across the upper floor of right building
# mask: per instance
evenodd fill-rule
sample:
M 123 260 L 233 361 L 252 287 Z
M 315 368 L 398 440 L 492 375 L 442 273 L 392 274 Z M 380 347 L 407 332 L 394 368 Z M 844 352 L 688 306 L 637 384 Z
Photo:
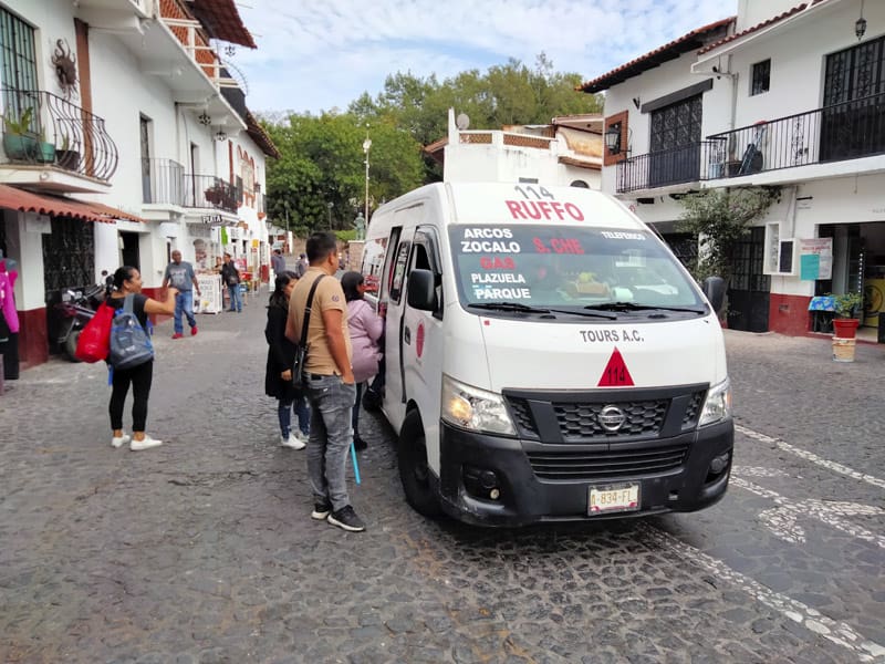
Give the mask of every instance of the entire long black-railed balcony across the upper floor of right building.
M 759 122 L 712 134 L 699 143 L 631 157 L 617 165 L 616 190 L 626 194 L 727 180 L 877 155 L 885 155 L 885 94 Z M 814 177 L 827 174 L 815 172 Z M 790 179 L 811 176 L 806 170 Z M 777 177 L 770 184 L 777 184 Z

